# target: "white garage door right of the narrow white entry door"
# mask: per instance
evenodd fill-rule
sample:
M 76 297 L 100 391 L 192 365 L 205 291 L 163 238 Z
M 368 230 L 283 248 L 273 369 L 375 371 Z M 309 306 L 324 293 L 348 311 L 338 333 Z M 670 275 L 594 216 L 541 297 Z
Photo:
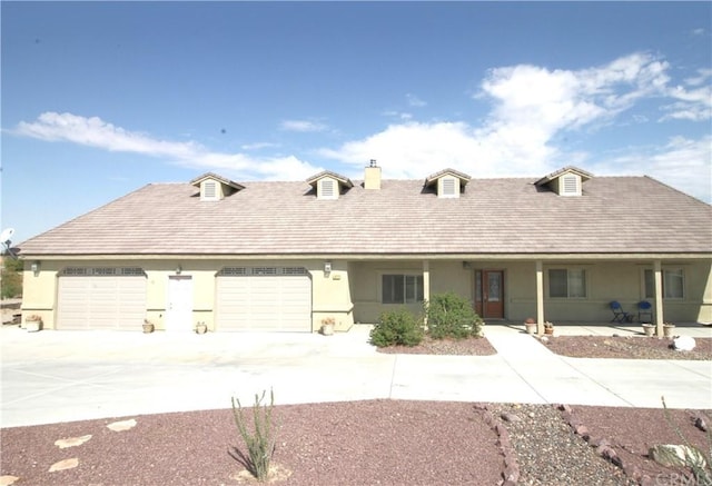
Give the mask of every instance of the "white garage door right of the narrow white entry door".
M 312 331 L 305 268 L 229 267 L 217 280 L 217 330 Z

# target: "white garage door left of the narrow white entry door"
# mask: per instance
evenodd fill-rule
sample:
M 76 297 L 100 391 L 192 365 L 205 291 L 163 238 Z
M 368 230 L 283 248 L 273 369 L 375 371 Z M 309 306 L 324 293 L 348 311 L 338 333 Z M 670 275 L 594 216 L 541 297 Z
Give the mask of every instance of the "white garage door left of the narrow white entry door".
M 146 316 L 140 268 L 66 268 L 59 277 L 58 329 L 138 331 Z

